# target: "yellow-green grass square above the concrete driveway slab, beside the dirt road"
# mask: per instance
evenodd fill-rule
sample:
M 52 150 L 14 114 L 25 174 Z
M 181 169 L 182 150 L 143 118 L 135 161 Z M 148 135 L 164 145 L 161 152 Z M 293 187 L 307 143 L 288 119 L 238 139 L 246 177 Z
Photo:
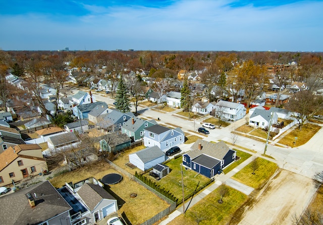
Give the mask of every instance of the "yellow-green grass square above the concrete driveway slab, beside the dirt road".
M 255 170 L 255 175 L 253 175 L 252 164 L 253 163 L 250 162 L 232 178 L 254 189 L 260 189 L 262 185 L 273 176 L 278 168 L 276 163 L 258 157 L 258 168 Z

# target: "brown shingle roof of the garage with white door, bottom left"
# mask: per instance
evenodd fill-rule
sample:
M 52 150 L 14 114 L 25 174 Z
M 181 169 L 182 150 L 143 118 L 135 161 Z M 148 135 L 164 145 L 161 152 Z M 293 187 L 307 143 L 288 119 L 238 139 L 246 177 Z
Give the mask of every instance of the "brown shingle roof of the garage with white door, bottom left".
M 77 194 L 82 198 L 84 203 L 91 211 L 93 211 L 95 206 L 97 206 L 102 199 L 115 200 L 111 194 L 100 186 L 88 183 L 83 184 Z

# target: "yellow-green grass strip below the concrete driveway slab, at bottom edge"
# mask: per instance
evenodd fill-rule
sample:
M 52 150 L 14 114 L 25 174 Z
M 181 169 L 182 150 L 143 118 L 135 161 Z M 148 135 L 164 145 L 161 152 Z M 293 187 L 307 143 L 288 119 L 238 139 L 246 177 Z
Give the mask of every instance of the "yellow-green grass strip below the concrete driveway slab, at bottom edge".
M 185 215 L 177 216 L 169 224 L 229 224 L 235 211 L 247 201 L 248 196 L 236 189 L 228 188 L 229 194 L 223 198 L 222 204 L 218 203 L 221 197 L 216 189 L 188 209 Z

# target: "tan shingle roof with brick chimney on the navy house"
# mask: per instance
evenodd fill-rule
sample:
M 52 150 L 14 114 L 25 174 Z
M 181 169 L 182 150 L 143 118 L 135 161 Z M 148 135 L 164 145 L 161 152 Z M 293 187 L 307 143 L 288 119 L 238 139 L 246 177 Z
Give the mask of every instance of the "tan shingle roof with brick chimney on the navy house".
M 198 149 L 199 143 L 201 143 L 202 146 L 201 150 Z M 222 160 L 229 150 L 230 148 L 223 141 L 212 143 L 204 141 L 202 139 L 198 139 L 192 145 L 191 151 L 188 151 L 187 154 L 191 157 L 191 159 L 194 159 L 200 156 L 201 154 L 205 154 L 213 158 Z

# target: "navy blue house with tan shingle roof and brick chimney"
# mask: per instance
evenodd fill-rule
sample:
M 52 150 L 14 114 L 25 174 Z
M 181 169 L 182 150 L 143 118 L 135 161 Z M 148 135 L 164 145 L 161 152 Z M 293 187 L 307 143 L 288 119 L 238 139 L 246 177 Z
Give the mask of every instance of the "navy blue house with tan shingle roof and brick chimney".
M 183 154 L 183 165 L 207 178 L 213 178 L 235 159 L 236 151 L 223 141 L 212 143 L 199 139 L 190 151 Z

